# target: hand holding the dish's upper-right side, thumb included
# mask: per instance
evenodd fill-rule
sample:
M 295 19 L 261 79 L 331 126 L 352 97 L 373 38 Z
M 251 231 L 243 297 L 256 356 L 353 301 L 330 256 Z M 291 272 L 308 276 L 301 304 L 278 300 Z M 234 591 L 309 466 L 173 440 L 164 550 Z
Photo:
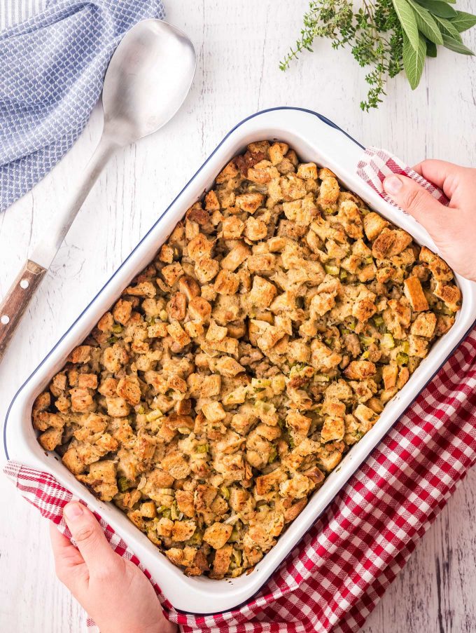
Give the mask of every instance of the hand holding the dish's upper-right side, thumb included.
M 388 176 L 385 192 L 425 227 L 454 271 L 476 281 L 476 169 L 423 161 L 414 170 L 444 191 L 447 207 L 405 176 Z

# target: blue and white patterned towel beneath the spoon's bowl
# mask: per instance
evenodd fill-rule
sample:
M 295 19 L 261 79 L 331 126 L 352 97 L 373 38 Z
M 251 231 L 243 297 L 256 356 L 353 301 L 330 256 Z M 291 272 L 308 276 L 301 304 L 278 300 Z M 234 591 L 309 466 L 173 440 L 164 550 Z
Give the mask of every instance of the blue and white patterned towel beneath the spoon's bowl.
M 0 0 L 18 6 L 20 0 Z M 104 72 L 139 20 L 164 18 L 160 0 L 49 0 L 0 32 L 0 211 L 68 151 L 102 90 Z M 2 20 L 3 21 L 3 20 Z

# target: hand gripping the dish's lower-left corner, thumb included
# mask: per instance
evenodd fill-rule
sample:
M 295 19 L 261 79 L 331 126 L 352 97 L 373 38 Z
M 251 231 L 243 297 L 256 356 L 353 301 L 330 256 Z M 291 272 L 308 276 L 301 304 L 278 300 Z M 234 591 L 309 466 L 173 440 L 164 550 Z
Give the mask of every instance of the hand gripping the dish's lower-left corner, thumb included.
M 64 508 L 78 549 L 50 524 L 56 575 L 101 633 L 174 633 L 153 586 L 131 561 L 113 552 L 99 523 L 80 503 Z

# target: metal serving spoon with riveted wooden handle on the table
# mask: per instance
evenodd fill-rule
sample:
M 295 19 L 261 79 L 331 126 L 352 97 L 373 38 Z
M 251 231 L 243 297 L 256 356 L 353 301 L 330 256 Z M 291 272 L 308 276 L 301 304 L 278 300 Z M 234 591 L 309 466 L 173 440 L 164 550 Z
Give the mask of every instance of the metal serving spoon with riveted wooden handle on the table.
M 116 149 L 152 134 L 174 116 L 190 90 L 196 64 L 190 39 L 162 20 L 139 22 L 116 48 L 102 91 L 102 137 L 85 168 L 79 189 L 55 213 L 45 236 L 0 304 L 0 360 L 107 161 Z

